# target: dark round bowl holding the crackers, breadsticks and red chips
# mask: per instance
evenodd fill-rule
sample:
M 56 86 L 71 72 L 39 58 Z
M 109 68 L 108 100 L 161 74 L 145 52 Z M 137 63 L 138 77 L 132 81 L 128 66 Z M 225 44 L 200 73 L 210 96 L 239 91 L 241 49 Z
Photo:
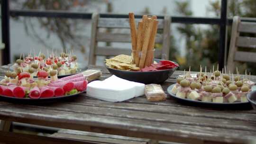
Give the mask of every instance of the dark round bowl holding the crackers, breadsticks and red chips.
M 158 63 L 161 59 L 155 59 Z M 106 66 L 107 69 L 111 74 L 115 76 L 128 80 L 128 81 L 135 81 L 145 84 L 150 83 L 162 83 L 167 80 L 177 69 L 177 67 L 168 70 L 160 70 L 154 72 L 134 72 L 134 71 L 124 71 L 124 70 L 117 70 Z

